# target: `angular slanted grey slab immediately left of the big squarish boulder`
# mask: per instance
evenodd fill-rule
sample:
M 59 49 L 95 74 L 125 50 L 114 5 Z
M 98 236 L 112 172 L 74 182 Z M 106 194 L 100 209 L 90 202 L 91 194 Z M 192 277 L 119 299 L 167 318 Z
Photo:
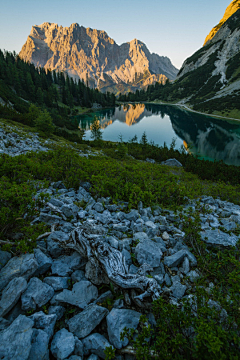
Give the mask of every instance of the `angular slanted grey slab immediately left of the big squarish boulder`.
M 69 330 L 79 339 L 88 336 L 98 324 L 107 316 L 109 311 L 96 304 L 89 305 L 80 314 L 68 321 Z

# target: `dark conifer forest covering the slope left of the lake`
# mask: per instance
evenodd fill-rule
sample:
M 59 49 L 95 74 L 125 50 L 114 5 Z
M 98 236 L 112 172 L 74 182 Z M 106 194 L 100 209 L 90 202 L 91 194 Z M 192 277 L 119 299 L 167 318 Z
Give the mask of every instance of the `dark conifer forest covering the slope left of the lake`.
M 29 106 L 34 103 L 41 111 L 47 110 L 54 125 L 63 129 L 56 128 L 55 132 L 72 141 L 75 141 L 74 135 L 66 129 L 78 129 L 78 124 L 69 117 L 76 113 L 74 106 L 91 107 L 94 102 L 103 107 L 115 105 L 114 94 L 90 89 L 82 81 L 70 79 L 67 74 L 35 68 L 15 53 L 1 50 L 0 97 L 6 102 L 6 106 L 0 105 L 1 117 L 34 126 L 36 118 L 28 116 Z M 75 134 L 76 138 L 79 142 Z

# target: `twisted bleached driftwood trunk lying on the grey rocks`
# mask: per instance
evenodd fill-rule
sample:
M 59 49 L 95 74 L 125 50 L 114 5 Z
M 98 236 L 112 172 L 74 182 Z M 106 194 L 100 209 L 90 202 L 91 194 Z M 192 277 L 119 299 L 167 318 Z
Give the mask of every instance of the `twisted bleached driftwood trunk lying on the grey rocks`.
M 88 235 L 86 235 L 88 236 Z M 91 235 L 86 238 L 83 230 L 76 228 L 66 242 L 61 242 L 64 248 L 76 250 L 80 255 L 87 258 L 105 272 L 109 280 L 124 291 L 130 290 L 132 300 L 142 306 L 146 297 L 156 300 L 160 296 L 160 287 L 157 281 L 146 276 L 147 271 L 152 271 L 147 264 L 142 265 L 137 274 L 130 274 L 125 258 L 117 249 L 104 241 L 98 240 Z M 138 295 L 138 293 L 141 293 Z

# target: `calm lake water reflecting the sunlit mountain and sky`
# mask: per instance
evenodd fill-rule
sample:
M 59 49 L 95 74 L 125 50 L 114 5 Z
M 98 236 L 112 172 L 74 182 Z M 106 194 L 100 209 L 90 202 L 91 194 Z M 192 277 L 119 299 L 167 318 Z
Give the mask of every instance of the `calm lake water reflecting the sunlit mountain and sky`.
M 86 113 L 77 117 L 79 127 L 86 130 L 90 140 L 90 126 L 98 118 L 103 140 L 123 141 L 135 135 L 140 141 L 143 132 L 148 141 L 169 146 L 176 139 L 176 148 L 182 145 L 201 158 L 222 160 L 240 165 L 240 121 L 224 121 L 181 110 L 175 106 L 136 104 Z

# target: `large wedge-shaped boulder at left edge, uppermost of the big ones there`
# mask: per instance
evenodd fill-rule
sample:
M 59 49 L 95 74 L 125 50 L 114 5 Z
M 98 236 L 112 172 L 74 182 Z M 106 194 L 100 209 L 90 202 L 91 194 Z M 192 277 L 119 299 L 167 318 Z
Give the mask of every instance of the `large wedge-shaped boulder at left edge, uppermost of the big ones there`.
M 38 268 L 33 254 L 25 254 L 11 258 L 0 273 L 0 291 L 16 277 L 23 277 L 28 281 Z

